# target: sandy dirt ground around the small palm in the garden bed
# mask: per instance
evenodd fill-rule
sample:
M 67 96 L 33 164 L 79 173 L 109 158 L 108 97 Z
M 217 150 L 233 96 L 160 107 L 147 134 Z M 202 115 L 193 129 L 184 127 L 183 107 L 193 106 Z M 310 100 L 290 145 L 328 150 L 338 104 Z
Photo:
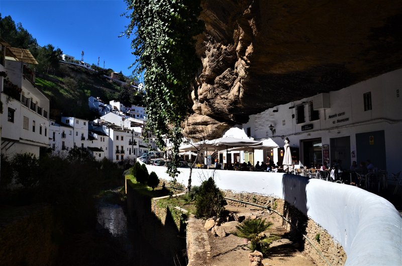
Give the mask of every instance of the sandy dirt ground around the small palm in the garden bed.
M 273 219 L 273 214 L 266 211 L 261 213 L 258 208 L 239 208 L 227 206 L 227 210 L 237 214 L 255 215 L 265 218 L 267 221 L 273 222 L 270 233 L 276 233 L 280 236 L 286 234 L 286 230 L 280 222 Z M 204 229 L 204 228 L 200 228 Z M 204 229 L 205 230 L 205 229 Z M 212 235 L 208 231 L 208 242 L 211 247 L 211 255 L 204 265 L 217 266 L 247 266 L 249 264 L 248 255 L 250 250 L 245 247 L 242 238 L 227 234 L 226 237 Z M 263 258 L 262 265 L 316 265 L 316 263 L 305 253 L 297 250 L 297 244 L 289 239 L 281 238 L 271 244 L 269 257 Z

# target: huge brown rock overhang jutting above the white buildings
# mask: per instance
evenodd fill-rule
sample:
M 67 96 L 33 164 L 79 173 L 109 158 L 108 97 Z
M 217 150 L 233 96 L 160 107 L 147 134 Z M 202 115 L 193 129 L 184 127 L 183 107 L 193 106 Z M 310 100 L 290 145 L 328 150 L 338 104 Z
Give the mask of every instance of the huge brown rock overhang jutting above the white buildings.
M 218 138 L 250 114 L 402 67 L 401 1 L 203 0 L 202 7 L 203 68 L 185 132 L 209 126 L 209 138 Z

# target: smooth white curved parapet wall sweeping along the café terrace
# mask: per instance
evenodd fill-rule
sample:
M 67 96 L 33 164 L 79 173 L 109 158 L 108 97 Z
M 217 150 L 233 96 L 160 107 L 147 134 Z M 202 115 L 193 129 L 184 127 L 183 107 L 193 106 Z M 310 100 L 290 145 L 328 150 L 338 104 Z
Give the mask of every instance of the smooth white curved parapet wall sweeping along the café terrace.
M 170 180 L 166 167 L 148 172 Z M 187 185 L 189 169 L 177 181 Z M 193 169 L 191 184 L 200 185 L 213 170 Z M 321 225 L 347 254 L 346 265 L 402 265 L 402 218 L 382 197 L 357 187 L 280 173 L 217 170 L 220 189 L 272 195 L 286 200 Z

